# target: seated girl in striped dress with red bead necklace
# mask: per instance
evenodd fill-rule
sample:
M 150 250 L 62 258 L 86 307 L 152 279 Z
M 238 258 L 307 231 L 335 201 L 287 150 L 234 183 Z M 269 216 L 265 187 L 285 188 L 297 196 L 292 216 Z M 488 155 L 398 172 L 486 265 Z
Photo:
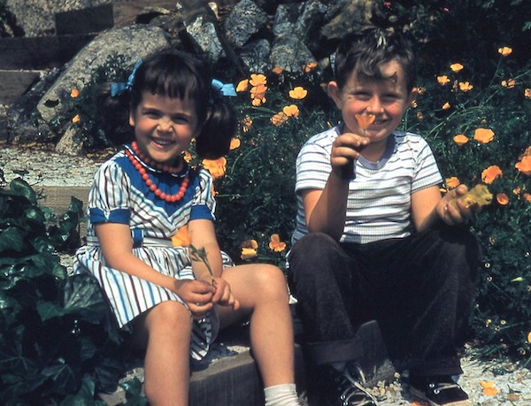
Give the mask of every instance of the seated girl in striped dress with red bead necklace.
M 163 50 L 137 63 L 127 84 L 112 84 L 105 130 L 114 142 L 135 141 L 96 172 L 74 271 L 96 277 L 119 327 L 145 349 L 151 405 L 188 405 L 189 356 L 201 359 L 220 328 L 244 318 L 266 405 L 298 405 L 284 276 L 272 265 L 234 266 L 219 250 L 212 178 L 182 157 L 192 141 L 201 157 L 228 151 L 235 114 L 211 83 L 196 58 Z M 134 131 L 109 133 L 119 117 L 109 105 L 128 106 Z M 173 247 L 185 226 L 190 245 Z

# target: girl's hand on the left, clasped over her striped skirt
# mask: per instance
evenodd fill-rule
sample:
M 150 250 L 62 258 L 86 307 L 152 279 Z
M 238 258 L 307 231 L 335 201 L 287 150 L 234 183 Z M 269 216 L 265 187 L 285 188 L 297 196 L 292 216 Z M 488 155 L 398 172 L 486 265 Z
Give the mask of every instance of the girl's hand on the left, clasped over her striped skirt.
M 204 318 L 214 307 L 215 287 L 201 280 L 175 280 L 174 292 L 187 304 L 196 320 Z

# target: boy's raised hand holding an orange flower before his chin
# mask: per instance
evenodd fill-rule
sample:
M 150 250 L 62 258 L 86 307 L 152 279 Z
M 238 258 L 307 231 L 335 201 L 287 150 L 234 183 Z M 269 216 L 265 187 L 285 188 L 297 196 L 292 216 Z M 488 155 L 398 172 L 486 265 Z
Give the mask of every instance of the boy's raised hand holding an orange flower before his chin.
M 369 139 L 354 133 L 344 133 L 339 135 L 332 144 L 330 164 L 332 172 L 344 178 L 345 173 L 351 172 L 351 166 L 360 156 L 362 149 L 369 144 Z

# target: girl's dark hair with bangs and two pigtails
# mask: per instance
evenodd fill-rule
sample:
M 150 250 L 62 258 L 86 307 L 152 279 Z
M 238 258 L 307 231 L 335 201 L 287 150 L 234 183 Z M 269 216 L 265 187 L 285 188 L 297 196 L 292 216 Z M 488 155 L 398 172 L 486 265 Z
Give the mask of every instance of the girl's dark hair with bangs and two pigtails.
M 108 93 L 102 96 L 103 129 L 113 143 L 133 141 L 129 111 L 141 103 L 143 92 L 193 100 L 197 124 L 201 126 L 196 135 L 197 154 L 207 159 L 227 154 L 237 126 L 235 111 L 227 97 L 212 90 L 212 78 L 203 61 L 178 50 L 160 50 L 138 66 L 128 91 L 119 97 Z

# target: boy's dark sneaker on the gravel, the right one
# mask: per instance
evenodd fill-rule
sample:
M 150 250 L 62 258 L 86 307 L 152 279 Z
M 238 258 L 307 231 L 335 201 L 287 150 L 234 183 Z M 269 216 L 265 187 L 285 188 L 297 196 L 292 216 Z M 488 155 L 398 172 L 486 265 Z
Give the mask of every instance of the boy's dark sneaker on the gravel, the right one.
M 430 406 L 472 406 L 466 392 L 450 376 L 410 377 L 410 392 Z

